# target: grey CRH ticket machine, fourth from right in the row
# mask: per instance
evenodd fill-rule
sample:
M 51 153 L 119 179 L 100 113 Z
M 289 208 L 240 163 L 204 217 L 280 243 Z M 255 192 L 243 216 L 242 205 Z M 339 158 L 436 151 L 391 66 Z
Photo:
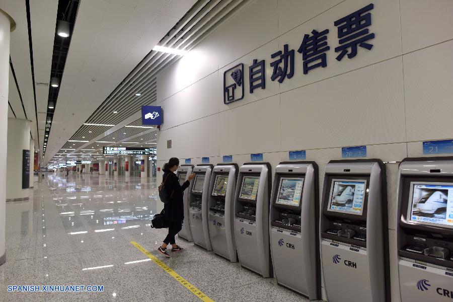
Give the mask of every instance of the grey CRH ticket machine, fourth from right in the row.
M 272 277 L 269 247 L 269 163 L 246 163 L 239 168 L 235 194 L 235 237 L 241 266 Z

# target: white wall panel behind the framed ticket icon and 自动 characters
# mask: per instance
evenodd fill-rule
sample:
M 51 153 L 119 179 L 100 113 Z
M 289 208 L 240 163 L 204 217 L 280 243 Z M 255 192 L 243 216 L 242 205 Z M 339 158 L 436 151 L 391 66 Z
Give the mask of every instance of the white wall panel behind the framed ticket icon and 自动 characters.
M 251 53 L 241 57 L 240 59 L 234 61 L 233 63 L 230 63 L 222 68 L 219 69 L 218 71 L 218 82 L 219 82 L 219 87 L 218 90 L 216 91 L 217 94 L 220 95 L 219 99 L 219 105 L 218 105 L 218 110 L 219 111 L 224 111 L 228 110 L 231 108 L 235 108 L 238 106 L 242 106 L 244 104 L 254 102 L 257 100 L 261 100 L 270 96 L 277 95 L 279 93 L 279 83 L 277 81 L 272 82 L 270 81 L 270 76 L 272 74 L 272 67 L 269 65 L 269 62 L 266 60 L 266 57 L 272 53 L 275 49 L 278 48 L 278 41 L 273 40 L 262 47 L 258 48 L 257 50 L 252 51 Z M 249 81 L 249 67 L 250 65 L 253 64 L 253 60 L 257 59 L 258 61 L 261 61 L 262 59 L 265 59 L 265 73 L 266 73 L 266 79 L 265 79 L 265 84 L 266 84 L 266 89 L 255 89 L 253 93 L 250 93 L 250 81 Z M 242 99 L 239 102 L 233 102 L 228 105 L 225 105 L 223 103 L 223 94 L 222 94 L 222 89 L 223 89 L 223 73 L 236 66 L 239 63 L 244 63 L 244 99 Z M 230 72 L 229 72 L 230 73 Z M 225 74 L 225 77 L 231 77 L 230 74 Z M 238 94 L 238 91 L 240 88 L 238 87 L 236 90 L 236 94 Z

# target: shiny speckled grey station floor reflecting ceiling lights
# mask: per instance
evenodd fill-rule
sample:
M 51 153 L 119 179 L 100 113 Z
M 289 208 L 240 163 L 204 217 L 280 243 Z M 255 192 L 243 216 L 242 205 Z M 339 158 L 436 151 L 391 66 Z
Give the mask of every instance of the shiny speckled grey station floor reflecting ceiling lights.
M 150 261 L 136 241 L 215 301 L 304 301 L 192 243 L 164 259 L 166 230 L 149 227 L 156 179 L 62 173 L 35 183 L 33 198 L 7 203 L 7 262 L 0 301 L 200 301 Z M 7 292 L 8 285 L 103 285 L 104 292 Z

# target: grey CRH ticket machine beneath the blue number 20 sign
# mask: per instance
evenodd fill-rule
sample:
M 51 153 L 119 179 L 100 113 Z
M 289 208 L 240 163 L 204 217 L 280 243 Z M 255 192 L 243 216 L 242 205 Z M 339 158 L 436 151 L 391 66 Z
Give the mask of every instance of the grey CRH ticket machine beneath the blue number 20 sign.
M 326 166 L 320 232 L 329 302 L 390 301 L 386 191 L 380 160 Z

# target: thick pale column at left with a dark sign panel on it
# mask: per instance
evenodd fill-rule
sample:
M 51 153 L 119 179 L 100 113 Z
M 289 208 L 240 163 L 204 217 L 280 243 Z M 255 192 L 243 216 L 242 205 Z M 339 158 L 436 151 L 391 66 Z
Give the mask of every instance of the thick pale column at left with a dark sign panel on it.
M 24 178 L 23 166 L 30 164 L 29 159 L 24 159 L 25 153 L 30 152 L 30 121 L 9 118 L 7 144 L 7 201 L 28 199 L 30 180 Z

